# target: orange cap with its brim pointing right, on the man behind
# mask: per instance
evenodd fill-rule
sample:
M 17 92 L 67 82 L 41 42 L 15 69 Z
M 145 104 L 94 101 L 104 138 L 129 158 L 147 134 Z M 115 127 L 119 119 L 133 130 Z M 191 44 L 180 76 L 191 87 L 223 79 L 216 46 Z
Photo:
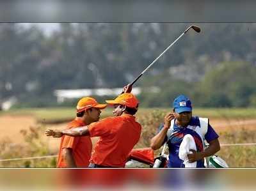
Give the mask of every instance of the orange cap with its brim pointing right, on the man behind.
M 99 104 L 95 99 L 91 97 L 84 97 L 79 100 L 76 106 L 76 112 L 86 111 L 92 107 L 104 109 L 107 107 L 107 104 Z

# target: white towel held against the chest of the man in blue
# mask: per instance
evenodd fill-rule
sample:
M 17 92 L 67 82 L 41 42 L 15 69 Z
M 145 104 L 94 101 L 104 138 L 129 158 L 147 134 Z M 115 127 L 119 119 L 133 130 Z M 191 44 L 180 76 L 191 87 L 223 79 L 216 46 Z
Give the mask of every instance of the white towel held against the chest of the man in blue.
M 183 141 L 180 144 L 179 158 L 184 161 L 185 168 L 195 168 L 196 162 L 188 162 L 188 154 L 192 153 L 189 149 L 196 151 L 196 143 L 192 135 L 187 134 L 183 137 Z

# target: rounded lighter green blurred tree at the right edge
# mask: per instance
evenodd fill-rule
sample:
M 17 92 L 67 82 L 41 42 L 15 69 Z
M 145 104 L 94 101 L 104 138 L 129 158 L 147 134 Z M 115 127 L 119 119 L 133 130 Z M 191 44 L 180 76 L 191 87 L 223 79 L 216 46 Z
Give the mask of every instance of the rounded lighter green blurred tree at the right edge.
M 246 62 L 220 63 L 206 73 L 194 99 L 203 107 L 248 107 L 256 92 L 256 68 Z

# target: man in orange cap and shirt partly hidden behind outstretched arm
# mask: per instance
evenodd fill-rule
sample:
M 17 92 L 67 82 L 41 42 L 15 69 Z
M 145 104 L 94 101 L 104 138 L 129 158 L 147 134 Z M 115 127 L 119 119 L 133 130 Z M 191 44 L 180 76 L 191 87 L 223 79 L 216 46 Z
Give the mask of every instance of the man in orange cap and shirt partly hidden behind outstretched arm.
M 104 109 L 106 106 L 107 104 L 99 104 L 90 97 L 81 98 L 77 103 L 76 118 L 68 123 L 68 129 L 99 121 L 100 109 Z M 83 137 L 64 135 L 61 137 L 57 167 L 88 167 L 91 153 L 92 141 L 88 135 Z

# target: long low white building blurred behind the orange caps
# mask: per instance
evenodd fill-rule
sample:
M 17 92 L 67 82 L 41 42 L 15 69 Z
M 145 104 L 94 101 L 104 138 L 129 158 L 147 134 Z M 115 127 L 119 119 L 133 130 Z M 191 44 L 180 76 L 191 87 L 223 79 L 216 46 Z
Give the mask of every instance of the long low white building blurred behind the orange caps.
M 81 98 L 83 96 L 117 96 L 122 92 L 123 88 L 97 88 L 97 89 L 56 89 L 54 95 L 57 97 L 58 103 L 63 103 L 65 100 Z M 132 88 L 134 95 L 141 93 L 141 88 Z

